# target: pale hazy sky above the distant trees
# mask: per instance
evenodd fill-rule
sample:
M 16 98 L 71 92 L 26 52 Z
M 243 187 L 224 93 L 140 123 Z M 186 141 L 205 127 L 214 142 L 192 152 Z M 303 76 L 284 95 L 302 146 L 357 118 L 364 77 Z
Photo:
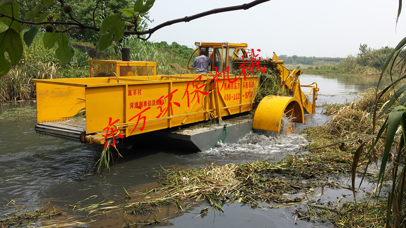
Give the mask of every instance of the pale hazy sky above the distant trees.
M 156 0 L 149 27 L 253 0 Z M 406 36 L 406 8 L 396 25 L 398 0 L 272 0 L 248 10 L 209 15 L 157 30 L 152 42 L 247 43 L 262 57 L 347 57 L 360 44 L 395 47 Z

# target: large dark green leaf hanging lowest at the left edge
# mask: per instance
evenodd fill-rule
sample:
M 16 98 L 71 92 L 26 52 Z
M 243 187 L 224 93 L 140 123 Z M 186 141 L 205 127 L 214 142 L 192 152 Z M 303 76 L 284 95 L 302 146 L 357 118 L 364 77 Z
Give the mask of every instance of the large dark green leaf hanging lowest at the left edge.
M 16 65 L 22 57 L 22 41 L 21 36 L 14 29 L 7 29 L 0 33 L 0 75 L 9 72 L 11 68 L 10 62 L 5 57 L 5 52 L 9 53 L 10 61 Z

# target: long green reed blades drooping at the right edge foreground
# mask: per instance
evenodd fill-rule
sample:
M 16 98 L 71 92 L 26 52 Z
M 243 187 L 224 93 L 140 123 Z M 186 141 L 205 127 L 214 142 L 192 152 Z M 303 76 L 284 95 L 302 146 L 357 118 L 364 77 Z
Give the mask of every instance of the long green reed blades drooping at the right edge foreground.
M 400 45 L 404 47 L 406 41 Z M 404 106 L 406 102 L 406 96 L 404 96 L 406 85 L 400 84 L 400 88 L 397 90 L 392 87 L 404 79 L 406 79 L 405 73 L 400 75 L 392 85 L 386 87 L 382 93 L 378 94 L 374 108 L 371 111 L 371 115 L 373 115 L 372 133 L 375 133 L 375 128 L 379 129 L 379 131 L 373 138 L 372 145 L 367 147 L 367 165 L 372 162 L 371 159 L 375 156 L 376 144 L 380 142 L 384 143 L 384 149 L 381 150 L 382 161 L 378 174 L 376 194 L 378 196 L 380 195 L 383 190 L 382 186 L 387 183 L 387 178 L 390 178 L 389 183 L 391 183 L 391 187 L 388 192 L 388 198 L 386 199 L 386 227 L 392 225 L 394 227 L 404 227 L 406 225 L 406 167 L 404 166 L 404 164 L 406 164 L 406 107 Z M 388 107 L 392 104 L 397 104 L 397 106 L 391 109 L 389 114 L 386 115 L 386 111 L 388 111 L 389 108 L 379 112 L 378 99 L 387 95 L 389 91 L 393 92 L 393 96 L 388 102 Z M 382 126 L 377 126 L 378 123 L 382 121 L 384 122 Z M 357 161 L 362 158 L 361 153 L 364 150 L 364 145 L 365 142 L 362 142 L 354 155 L 353 173 L 355 173 L 355 167 L 358 165 Z M 355 174 L 353 174 L 352 187 L 355 189 L 354 176 Z M 371 198 L 369 198 L 368 202 Z M 376 203 L 376 201 L 373 202 Z

